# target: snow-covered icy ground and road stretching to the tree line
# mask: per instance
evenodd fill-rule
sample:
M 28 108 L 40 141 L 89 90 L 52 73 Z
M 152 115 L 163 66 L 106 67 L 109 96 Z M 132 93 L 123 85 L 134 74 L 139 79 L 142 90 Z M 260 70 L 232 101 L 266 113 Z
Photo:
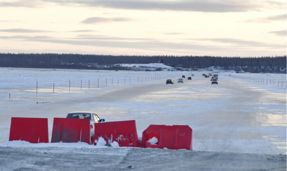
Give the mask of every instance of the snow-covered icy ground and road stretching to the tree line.
M 99 148 L 83 143 L 8 142 L 11 117 L 48 118 L 51 140 L 54 117 L 94 111 L 106 122 L 136 120 L 139 137 L 150 124 L 189 125 L 195 151 L 286 154 L 286 74 L 27 68 L 0 68 L 0 72 L 2 150 Z M 177 83 L 181 75 L 187 78 L 191 73 L 191 81 Z M 217 73 L 219 84 L 211 85 L 203 73 Z M 243 77 L 282 80 L 284 86 Z M 166 85 L 168 78 L 175 83 Z

